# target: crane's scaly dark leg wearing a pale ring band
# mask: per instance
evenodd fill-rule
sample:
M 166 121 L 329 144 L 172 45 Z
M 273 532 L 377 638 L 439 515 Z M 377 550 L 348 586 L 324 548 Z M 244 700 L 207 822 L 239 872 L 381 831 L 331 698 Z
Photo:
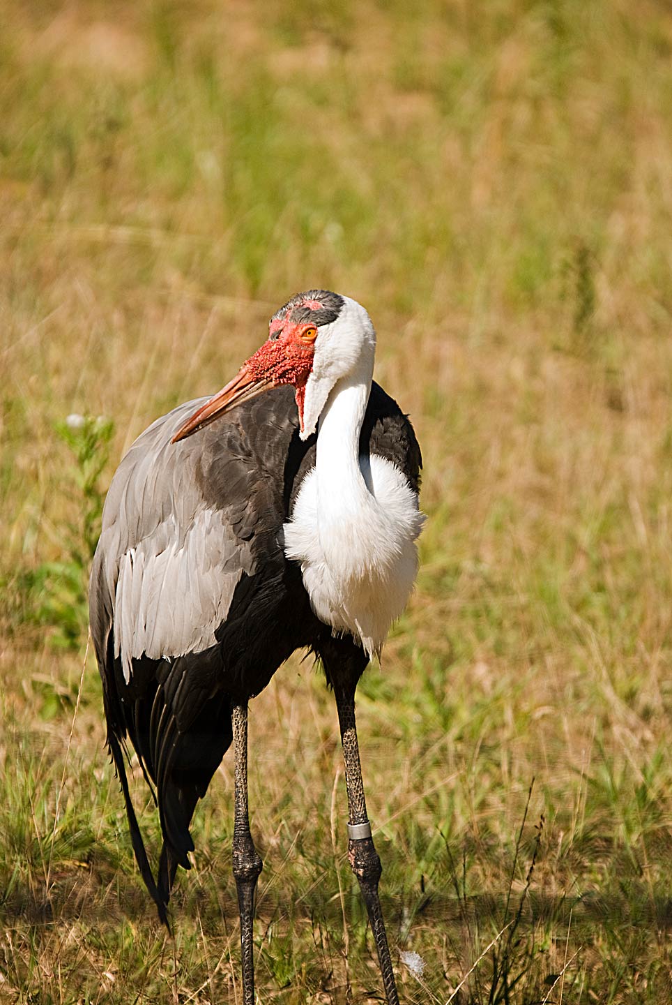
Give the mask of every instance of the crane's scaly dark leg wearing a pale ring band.
M 388 1005 L 399 1005 L 399 995 L 395 985 L 395 975 L 392 970 L 390 949 L 385 934 L 385 922 L 378 895 L 378 881 L 381 878 L 381 859 L 374 846 L 371 836 L 371 825 L 367 817 L 367 803 L 362 781 L 362 766 L 360 764 L 360 749 L 357 742 L 357 727 L 355 725 L 355 693 L 337 690 L 337 709 L 339 725 L 343 742 L 344 761 L 346 763 L 346 787 L 348 789 L 348 857 L 353 872 L 360 880 L 364 902 L 367 906 L 371 929 L 376 940 L 378 960 L 381 965 L 383 986 L 388 999 Z

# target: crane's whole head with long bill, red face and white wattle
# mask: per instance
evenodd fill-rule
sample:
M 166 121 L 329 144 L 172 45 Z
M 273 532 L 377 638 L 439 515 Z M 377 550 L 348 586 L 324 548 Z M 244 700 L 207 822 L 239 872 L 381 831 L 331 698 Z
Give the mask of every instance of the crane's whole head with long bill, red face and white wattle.
M 330 389 L 353 366 L 363 340 L 371 346 L 373 371 L 376 337 L 364 308 L 325 289 L 296 293 L 270 319 L 266 342 L 243 363 L 232 381 L 187 419 L 173 442 L 198 432 L 241 402 L 282 384 L 291 384 L 295 389 L 300 435 L 305 439 L 314 430 L 326 400 L 324 388 Z M 339 351 L 334 352 L 337 347 Z M 320 385 L 319 392 L 312 396 L 311 378 L 315 389 Z M 306 390 L 314 399 L 307 409 Z

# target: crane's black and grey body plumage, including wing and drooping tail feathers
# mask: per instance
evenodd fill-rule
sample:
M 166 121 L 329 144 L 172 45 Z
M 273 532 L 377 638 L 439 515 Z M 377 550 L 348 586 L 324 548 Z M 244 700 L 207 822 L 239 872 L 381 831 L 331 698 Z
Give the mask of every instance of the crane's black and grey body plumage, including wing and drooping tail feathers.
M 172 444 L 198 405 L 159 419 L 122 461 L 90 583 L 107 743 L 141 872 L 164 921 L 176 867 L 189 868 L 194 809 L 231 743 L 232 707 L 259 693 L 295 649 L 321 657 L 327 680 L 337 652 L 356 677 L 367 663 L 354 639 L 332 638 L 315 617 L 300 568 L 283 553 L 282 526 L 315 456 L 315 437 L 298 436 L 293 390 L 276 388 Z M 377 384 L 360 446 L 393 461 L 418 489 L 413 428 Z M 220 594 L 230 600 L 218 614 Z M 211 619 L 205 629 L 199 611 Z M 156 786 L 164 838 L 156 881 L 127 783 L 129 741 Z

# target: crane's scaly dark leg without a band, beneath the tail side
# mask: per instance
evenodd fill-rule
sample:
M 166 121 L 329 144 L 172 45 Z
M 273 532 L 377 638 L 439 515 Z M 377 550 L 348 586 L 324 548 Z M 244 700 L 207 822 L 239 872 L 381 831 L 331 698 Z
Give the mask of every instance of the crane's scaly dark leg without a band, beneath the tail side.
M 254 893 L 261 872 L 261 857 L 254 847 L 247 810 L 247 705 L 234 706 L 231 719 L 235 754 L 233 875 L 240 913 L 243 1003 L 254 1005 Z

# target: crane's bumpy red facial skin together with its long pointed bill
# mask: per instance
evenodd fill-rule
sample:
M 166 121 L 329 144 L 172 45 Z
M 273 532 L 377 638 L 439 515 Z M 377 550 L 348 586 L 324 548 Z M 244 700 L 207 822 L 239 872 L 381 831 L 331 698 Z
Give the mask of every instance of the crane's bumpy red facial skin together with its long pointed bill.
M 311 333 L 315 329 L 310 324 L 296 325 L 281 319 L 271 322 L 271 326 L 268 341 L 243 363 L 232 381 L 190 415 L 173 437 L 173 443 L 210 425 L 235 405 L 280 384 L 292 384 L 296 388 L 296 407 L 303 430 L 303 400 L 312 369 L 314 336 Z

